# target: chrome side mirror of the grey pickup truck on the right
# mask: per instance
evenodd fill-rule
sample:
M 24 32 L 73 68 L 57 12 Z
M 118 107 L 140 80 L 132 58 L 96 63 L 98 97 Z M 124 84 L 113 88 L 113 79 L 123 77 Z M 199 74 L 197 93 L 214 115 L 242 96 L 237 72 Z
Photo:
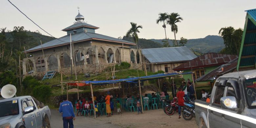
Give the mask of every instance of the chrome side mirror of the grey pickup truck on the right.
M 221 108 L 237 109 L 237 101 L 234 96 L 221 97 Z

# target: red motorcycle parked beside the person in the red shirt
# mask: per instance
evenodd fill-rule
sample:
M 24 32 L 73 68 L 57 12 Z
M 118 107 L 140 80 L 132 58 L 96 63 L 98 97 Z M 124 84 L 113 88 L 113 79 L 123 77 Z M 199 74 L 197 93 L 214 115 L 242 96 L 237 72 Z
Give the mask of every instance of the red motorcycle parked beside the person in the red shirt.
M 167 100 L 164 100 L 163 102 L 166 102 Z M 171 116 L 173 115 L 175 112 L 178 112 L 178 99 L 177 97 L 174 97 L 173 100 L 168 101 L 169 104 L 164 105 L 164 113 Z

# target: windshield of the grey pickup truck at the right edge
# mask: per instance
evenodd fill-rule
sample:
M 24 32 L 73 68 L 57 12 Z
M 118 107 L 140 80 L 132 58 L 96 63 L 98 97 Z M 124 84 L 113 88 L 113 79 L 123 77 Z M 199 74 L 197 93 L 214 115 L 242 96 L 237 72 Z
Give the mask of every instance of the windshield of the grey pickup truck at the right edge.
M 247 104 L 256 107 L 256 78 L 245 80 L 244 85 Z

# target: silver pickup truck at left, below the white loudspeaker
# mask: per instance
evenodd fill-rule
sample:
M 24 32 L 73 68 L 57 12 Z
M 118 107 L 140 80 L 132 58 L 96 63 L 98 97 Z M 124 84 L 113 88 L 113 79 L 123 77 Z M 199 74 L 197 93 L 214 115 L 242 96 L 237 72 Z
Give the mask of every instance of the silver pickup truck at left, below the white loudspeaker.
M 51 128 L 48 106 L 32 96 L 0 100 L 0 128 Z

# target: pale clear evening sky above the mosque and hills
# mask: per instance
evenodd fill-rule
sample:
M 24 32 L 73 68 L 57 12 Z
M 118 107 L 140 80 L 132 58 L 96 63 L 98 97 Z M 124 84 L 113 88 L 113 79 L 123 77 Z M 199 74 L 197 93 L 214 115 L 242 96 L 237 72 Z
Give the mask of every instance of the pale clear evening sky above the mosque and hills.
M 130 29 L 130 22 L 142 25 L 139 38 L 165 38 L 162 23 L 156 24 L 158 13 L 178 12 L 183 21 L 177 23 L 177 39 L 204 38 L 218 35 L 223 27 L 244 28 L 245 10 L 255 9 L 256 0 L 10 0 L 54 37 L 62 37 L 62 29 L 75 22 L 80 13 L 88 24 L 99 27 L 96 33 L 122 37 Z M 24 26 L 32 32 L 40 30 L 7 0 L 0 0 L 0 28 L 13 30 Z M 167 38 L 174 39 L 170 26 L 166 27 Z

